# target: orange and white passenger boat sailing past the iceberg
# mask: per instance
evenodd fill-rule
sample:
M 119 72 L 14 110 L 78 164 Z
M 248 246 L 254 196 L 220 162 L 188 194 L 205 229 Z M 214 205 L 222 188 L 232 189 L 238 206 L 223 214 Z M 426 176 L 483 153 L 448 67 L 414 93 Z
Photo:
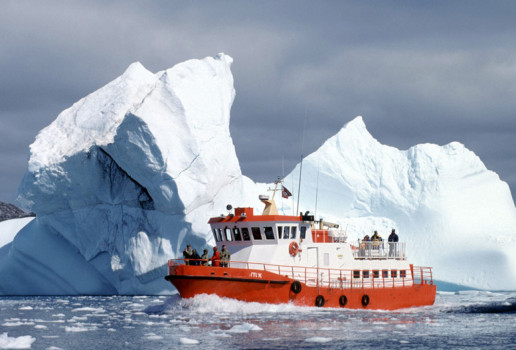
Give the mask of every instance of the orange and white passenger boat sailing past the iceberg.
M 225 245 L 231 254 L 225 266 L 168 261 L 165 279 L 182 298 L 216 294 L 245 302 L 375 310 L 433 305 L 432 268 L 409 263 L 405 242 L 348 242 L 339 225 L 315 221 L 309 212 L 280 215 L 274 194 L 260 200 L 261 214 L 228 205 L 227 215 L 209 219 L 218 251 Z

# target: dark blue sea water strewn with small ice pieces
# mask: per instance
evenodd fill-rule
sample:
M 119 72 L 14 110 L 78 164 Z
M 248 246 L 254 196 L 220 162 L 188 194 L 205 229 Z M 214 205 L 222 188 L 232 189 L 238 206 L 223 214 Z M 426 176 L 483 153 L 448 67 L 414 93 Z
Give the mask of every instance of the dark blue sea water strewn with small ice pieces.
M 516 292 L 398 311 L 213 295 L 0 297 L 0 349 L 516 349 Z

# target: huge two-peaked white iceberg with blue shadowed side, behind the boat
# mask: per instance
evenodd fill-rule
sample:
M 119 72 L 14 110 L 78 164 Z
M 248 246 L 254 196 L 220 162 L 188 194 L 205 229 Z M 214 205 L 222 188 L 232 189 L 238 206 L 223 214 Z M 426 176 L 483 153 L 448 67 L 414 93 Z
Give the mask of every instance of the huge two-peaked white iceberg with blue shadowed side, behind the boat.
M 63 111 L 30 147 L 19 201 L 36 213 L 0 247 L 0 294 L 158 294 L 169 258 L 212 245 L 226 204 L 259 207 L 229 132 L 231 57 L 153 74 L 141 64 Z M 397 228 L 434 278 L 516 289 L 516 209 L 506 183 L 463 145 L 381 145 L 358 117 L 285 186 L 356 239 Z M 19 231 L 18 231 L 19 230 Z M 12 239 L 14 237 L 14 239 Z

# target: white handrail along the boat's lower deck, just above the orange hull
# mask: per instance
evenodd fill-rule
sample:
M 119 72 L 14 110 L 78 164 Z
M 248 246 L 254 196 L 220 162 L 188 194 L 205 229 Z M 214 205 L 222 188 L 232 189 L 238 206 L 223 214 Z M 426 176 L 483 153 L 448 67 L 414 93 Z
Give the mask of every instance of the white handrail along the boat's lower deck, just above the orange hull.
M 190 263 L 202 261 L 186 259 Z M 182 262 L 182 263 L 181 263 Z M 176 266 L 185 265 L 185 259 L 168 261 L 169 273 L 173 274 Z M 206 267 L 206 266 L 199 266 Z M 319 288 L 360 289 L 360 288 L 394 288 L 412 285 L 433 284 L 431 267 L 413 266 L 406 270 L 387 269 L 331 269 L 306 266 L 276 265 L 248 261 L 229 261 L 221 269 L 244 269 L 268 271 L 283 277 L 303 282 L 307 286 Z M 390 274 L 390 277 L 389 277 Z M 387 276 L 386 276 L 387 275 Z

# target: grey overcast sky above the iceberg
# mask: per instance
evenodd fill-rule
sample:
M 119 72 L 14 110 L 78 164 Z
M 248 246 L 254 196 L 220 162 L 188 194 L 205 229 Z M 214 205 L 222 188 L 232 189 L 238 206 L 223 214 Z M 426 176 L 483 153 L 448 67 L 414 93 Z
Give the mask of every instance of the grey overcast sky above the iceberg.
M 463 143 L 516 192 L 515 1 L 0 1 L 0 201 L 37 133 L 139 61 L 233 57 L 254 181 L 361 115 L 383 144 Z M 302 135 L 305 135 L 302 137 Z

